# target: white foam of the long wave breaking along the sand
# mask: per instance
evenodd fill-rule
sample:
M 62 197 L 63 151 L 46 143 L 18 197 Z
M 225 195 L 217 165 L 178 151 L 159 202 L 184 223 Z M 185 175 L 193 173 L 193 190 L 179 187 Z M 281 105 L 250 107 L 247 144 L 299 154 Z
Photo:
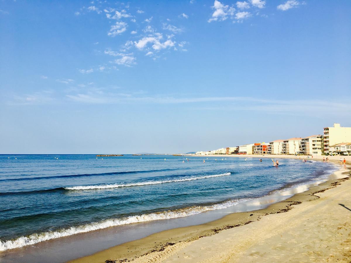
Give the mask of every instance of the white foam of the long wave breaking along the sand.
M 248 199 L 241 199 L 240 201 L 230 200 L 220 204 L 208 205 L 203 207 L 197 206 L 197 207 L 178 209 L 174 211 L 168 210 L 160 213 L 128 216 L 128 217 L 116 218 L 116 219 L 107 219 L 96 223 L 81 225 L 78 227 L 60 229 L 57 231 L 49 231 L 49 232 L 44 232 L 40 234 L 32 234 L 26 237 L 22 236 L 15 240 L 8 240 L 4 242 L 0 240 L 0 251 L 5 251 L 8 249 L 14 249 L 14 248 L 21 248 L 26 245 L 33 245 L 33 244 L 46 241 L 46 240 L 51 240 L 54 238 L 71 236 L 78 233 L 89 232 L 89 231 L 113 227 L 117 225 L 125 225 L 125 224 L 132 224 L 132 223 L 138 223 L 138 222 L 147 222 L 147 221 L 153 221 L 153 220 L 163 220 L 163 219 L 171 219 L 171 218 L 177 218 L 177 217 L 196 215 L 210 210 L 217 210 L 217 209 L 231 207 L 233 205 L 245 202 L 247 200 Z

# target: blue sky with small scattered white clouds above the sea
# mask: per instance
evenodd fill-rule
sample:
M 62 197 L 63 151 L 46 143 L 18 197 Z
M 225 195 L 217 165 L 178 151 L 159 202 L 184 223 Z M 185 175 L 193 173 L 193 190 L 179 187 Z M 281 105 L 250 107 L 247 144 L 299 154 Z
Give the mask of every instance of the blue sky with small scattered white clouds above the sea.
M 0 154 L 186 153 L 351 127 L 350 13 L 0 0 Z

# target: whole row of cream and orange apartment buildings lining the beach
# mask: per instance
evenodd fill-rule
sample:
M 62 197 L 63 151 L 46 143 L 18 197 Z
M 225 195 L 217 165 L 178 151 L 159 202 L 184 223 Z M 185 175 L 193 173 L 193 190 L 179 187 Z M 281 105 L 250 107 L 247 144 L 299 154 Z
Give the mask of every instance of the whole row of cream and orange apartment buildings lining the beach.
M 324 128 L 323 135 L 275 140 L 270 143 L 250 143 L 212 151 L 198 151 L 197 155 L 208 154 L 298 154 L 298 155 L 351 155 L 351 127 Z

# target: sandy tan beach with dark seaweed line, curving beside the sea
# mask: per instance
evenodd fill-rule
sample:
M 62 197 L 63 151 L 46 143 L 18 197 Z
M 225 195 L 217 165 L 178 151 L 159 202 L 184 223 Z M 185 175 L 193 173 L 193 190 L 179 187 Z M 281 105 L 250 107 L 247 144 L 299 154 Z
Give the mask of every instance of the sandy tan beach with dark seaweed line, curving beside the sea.
M 265 209 L 162 231 L 72 262 L 350 262 L 350 167 L 335 174 L 339 179 Z

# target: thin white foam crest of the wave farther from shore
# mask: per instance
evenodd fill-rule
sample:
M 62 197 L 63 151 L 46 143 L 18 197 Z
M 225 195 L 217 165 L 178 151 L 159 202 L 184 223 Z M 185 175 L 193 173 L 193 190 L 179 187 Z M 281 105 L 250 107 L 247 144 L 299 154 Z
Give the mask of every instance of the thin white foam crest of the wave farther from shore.
M 66 190 L 88 190 L 88 189 L 108 189 L 108 188 L 130 187 L 130 186 L 146 186 L 146 185 L 150 185 L 150 184 L 193 181 L 193 180 L 219 177 L 219 176 L 225 176 L 225 175 L 231 175 L 231 173 L 204 175 L 204 176 L 188 177 L 188 178 L 183 177 L 183 178 L 179 178 L 179 179 L 164 180 L 164 181 L 148 181 L 148 182 L 136 182 L 136 183 L 126 183 L 126 184 L 98 184 L 98 185 L 94 185 L 94 186 L 73 186 L 73 187 L 64 187 L 64 189 L 66 189 Z

